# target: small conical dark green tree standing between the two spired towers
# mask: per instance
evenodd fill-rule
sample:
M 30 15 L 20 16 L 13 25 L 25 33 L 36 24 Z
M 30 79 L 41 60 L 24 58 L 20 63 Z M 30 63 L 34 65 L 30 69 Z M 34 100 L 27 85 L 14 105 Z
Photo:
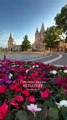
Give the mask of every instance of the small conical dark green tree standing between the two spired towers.
M 22 41 L 21 50 L 27 51 L 29 48 L 31 48 L 30 41 L 28 40 L 28 36 L 25 35 L 24 40 Z

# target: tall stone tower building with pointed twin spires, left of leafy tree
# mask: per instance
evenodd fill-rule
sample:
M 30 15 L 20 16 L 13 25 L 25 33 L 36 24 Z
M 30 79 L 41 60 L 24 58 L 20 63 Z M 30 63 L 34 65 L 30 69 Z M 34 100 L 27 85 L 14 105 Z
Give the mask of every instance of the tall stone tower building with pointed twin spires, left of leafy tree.
M 32 45 L 32 51 L 40 52 L 45 50 L 45 46 L 43 44 L 44 33 L 45 33 L 45 28 L 44 28 L 44 24 L 42 23 L 40 31 L 38 31 L 38 28 L 36 28 L 35 41 L 34 44 Z

